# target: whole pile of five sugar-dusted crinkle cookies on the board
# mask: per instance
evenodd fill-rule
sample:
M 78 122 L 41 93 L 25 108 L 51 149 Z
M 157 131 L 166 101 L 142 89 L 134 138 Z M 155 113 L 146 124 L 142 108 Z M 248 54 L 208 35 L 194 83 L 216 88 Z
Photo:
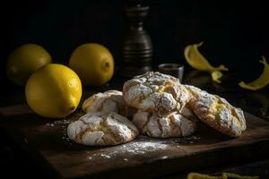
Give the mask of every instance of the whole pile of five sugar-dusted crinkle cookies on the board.
M 198 119 L 231 137 L 246 130 L 241 109 L 160 72 L 135 76 L 125 82 L 123 92 L 94 94 L 83 102 L 82 110 L 86 115 L 70 124 L 67 132 L 70 139 L 91 146 L 125 143 L 138 133 L 156 138 L 187 136 L 195 132 Z

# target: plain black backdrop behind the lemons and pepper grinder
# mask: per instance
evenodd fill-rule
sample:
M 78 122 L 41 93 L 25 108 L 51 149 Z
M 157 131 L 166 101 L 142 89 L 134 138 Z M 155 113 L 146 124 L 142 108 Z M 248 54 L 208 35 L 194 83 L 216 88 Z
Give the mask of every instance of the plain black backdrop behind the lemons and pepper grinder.
M 152 37 L 153 64 L 186 64 L 183 49 L 204 41 L 212 64 L 225 64 L 242 80 L 255 79 L 269 58 L 268 5 L 258 1 L 148 0 L 145 29 Z M 55 63 L 66 63 L 75 47 L 100 43 L 120 64 L 124 0 L 24 0 L 1 3 L 1 79 L 9 53 L 24 43 L 45 47 Z M 246 77 L 247 74 L 247 77 Z

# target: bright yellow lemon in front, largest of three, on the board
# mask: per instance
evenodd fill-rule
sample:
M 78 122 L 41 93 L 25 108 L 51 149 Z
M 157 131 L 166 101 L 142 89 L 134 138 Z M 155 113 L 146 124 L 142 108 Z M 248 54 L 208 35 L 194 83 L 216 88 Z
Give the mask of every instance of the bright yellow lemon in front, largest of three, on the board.
M 44 117 L 70 115 L 82 98 L 82 82 L 63 64 L 47 64 L 30 75 L 25 87 L 30 108 Z

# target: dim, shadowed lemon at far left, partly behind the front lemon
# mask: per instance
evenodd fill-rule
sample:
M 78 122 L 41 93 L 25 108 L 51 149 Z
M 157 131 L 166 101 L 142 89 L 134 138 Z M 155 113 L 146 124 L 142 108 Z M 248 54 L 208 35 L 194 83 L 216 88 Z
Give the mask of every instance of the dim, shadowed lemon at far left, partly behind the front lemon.
M 6 63 L 6 73 L 13 83 L 24 86 L 30 74 L 51 63 L 48 51 L 37 44 L 25 44 L 13 50 Z

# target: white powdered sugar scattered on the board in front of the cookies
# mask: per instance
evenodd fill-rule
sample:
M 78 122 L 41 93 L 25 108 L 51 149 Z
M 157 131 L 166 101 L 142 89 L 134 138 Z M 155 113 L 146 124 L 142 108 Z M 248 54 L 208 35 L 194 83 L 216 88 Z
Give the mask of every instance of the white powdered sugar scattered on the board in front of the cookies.
M 182 145 L 194 145 L 201 138 L 195 135 L 182 138 L 154 139 L 139 136 L 135 141 L 103 149 L 89 150 L 88 159 L 104 161 L 122 158 L 123 162 L 136 158 L 167 159 L 169 149 L 177 149 Z M 162 155 L 161 155 L 162 154 Z M 158 157 L 157 157 L 158 156 Z

